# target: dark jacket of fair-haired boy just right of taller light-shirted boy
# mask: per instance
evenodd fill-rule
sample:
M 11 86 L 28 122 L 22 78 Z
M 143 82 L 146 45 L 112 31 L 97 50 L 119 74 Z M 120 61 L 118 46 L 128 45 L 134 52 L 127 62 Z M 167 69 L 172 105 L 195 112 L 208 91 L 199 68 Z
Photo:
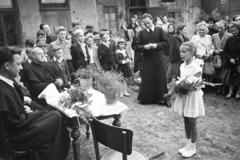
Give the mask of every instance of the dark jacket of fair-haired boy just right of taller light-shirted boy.
M 85 61 L 85 57 L 83 54 L 83 50 L 78 42 L 76 42 L 74 45 L 71 47 L 71 54 L 72 54 L 72 64 L 73 68 L 76 71 L 79 68 L 86 68 L 87 65 L 89 64 L 89 54 L 88 50 L 86 49 L 86 54 L 87 54 L 87 61 Z

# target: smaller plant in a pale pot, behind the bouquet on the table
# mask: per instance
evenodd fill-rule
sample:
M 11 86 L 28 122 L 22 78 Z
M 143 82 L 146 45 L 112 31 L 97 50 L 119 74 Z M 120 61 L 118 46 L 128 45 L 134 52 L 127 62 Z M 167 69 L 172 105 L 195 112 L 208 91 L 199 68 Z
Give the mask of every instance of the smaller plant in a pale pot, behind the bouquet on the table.
M 92 87 L 92 71 L 89 67 L 87 68 L 82 68 L 82 69 L 78 69 L 75 73 L 74 73 L 75 78 L 78 79 L 81 87 L 83 89 L 90 89 Z

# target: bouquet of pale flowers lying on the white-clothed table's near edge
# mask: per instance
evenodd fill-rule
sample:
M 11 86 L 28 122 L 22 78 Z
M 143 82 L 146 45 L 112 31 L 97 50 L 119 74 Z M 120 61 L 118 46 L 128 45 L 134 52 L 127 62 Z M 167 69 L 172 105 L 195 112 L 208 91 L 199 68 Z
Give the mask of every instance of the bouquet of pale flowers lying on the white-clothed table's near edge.
M 92 115 L 88 109 L 88 104 L 90 103 L 88 100 L 89 96 L 91 95 L 85 89 L 79 86 L 72 86 L 65 92 L 60 93 L 59 107 L 63 112 L 69 109 L 76 111 L 77 116 L 88 123 L 88 119 Z

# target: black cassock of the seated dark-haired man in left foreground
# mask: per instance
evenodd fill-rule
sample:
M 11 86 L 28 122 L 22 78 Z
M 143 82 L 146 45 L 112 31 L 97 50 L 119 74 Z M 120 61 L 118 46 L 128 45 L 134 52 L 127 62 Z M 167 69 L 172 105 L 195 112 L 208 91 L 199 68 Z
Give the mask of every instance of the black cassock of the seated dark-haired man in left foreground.
M 0 80 L 0 112 L 8 112 L 8 139 L 14 150 L 28 154 L 16 160 L 65 160 L 70 146 L 69 132 L 58 111 L 26 113 L 21 94 Z

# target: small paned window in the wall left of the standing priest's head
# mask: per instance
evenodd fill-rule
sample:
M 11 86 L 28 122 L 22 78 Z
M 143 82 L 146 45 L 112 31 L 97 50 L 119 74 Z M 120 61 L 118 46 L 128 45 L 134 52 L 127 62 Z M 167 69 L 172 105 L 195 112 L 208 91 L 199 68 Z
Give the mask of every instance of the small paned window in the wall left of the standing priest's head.
M 117 6 L 104 6 L 104 19 L 106 28 L 114 31 L 117 31 L 117 13 L 118 7 Z

